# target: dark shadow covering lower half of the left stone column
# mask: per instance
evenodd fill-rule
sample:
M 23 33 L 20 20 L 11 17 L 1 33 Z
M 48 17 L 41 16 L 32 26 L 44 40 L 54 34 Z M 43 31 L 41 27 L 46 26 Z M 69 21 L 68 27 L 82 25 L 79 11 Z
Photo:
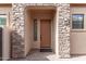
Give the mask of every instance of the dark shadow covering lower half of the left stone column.
M 11 57 L 24 57 L 24 38 L 16 30 L 11 31 Z

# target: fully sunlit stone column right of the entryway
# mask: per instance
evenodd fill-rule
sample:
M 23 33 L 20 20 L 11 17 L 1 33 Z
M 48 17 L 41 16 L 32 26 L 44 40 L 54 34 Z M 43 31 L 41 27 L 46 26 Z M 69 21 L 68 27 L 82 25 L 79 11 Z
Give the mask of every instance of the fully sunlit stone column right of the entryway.
M 59 11 L 59 55 L 70 57 L 70 4 L 58 4 Z

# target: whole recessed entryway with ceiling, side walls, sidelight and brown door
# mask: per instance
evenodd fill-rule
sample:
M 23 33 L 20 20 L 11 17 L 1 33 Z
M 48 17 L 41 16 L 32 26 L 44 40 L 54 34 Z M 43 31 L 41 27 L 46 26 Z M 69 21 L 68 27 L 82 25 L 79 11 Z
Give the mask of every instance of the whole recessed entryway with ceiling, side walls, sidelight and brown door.
M 56 52 L 56 7 L 29 7 L 25 10 L 25 55 Z

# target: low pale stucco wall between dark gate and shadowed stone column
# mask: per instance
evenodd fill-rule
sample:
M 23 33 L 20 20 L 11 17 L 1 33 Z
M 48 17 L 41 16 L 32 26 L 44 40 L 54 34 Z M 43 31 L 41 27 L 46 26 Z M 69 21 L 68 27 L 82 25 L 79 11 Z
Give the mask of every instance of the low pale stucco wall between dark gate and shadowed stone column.
M 9 60 L 11 53 L 10 28 L 3 27 L 2 33 L 2 60 Z

